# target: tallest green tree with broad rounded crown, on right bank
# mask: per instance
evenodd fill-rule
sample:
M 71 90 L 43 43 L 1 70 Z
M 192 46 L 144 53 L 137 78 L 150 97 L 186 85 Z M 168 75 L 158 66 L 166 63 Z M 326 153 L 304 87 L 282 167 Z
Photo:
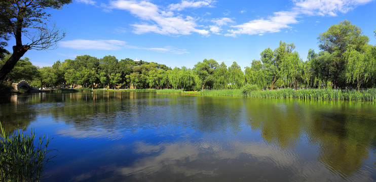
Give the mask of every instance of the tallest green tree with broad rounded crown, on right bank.
M 369 40 L 368 37 L 363 35 L 359 27 L 345 20 L 338 25 L 330 26 L 327 31 L 319 35 L 318 39 L 319 48 L 331 55 L 329 64 L 331 67 L 330 80 L 333 87 L 344 86 L 342 83 L 345 83 L 347 64 L 344 54 L 349 48 L 363 53 Z

